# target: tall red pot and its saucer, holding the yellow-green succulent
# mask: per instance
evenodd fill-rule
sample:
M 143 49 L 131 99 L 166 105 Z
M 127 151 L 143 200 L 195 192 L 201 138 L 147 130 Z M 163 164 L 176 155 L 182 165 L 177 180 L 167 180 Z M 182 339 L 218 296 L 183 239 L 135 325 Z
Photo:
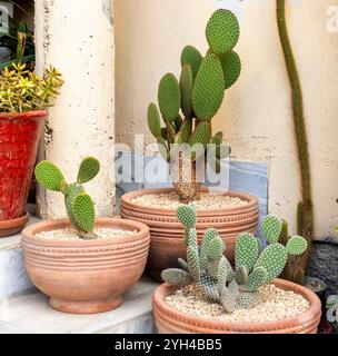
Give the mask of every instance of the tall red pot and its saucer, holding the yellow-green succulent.
M 0 113 L 0 237 L 28 221 L 26 202 L 47 111 Z

